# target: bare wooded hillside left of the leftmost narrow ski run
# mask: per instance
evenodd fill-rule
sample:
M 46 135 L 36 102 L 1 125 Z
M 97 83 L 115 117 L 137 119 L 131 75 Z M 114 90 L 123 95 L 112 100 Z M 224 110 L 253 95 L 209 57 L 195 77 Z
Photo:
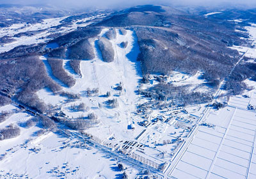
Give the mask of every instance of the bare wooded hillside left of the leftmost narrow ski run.
M 39 100 L 36 91 L 49 88 L 55 93 L 61 89 L 47 75 L 44 63 L 36 56 L 0 61 L 0 74 L 2 93 L 14 95 L 22 104 L 40 112 L 44 112 L 47 107 Z

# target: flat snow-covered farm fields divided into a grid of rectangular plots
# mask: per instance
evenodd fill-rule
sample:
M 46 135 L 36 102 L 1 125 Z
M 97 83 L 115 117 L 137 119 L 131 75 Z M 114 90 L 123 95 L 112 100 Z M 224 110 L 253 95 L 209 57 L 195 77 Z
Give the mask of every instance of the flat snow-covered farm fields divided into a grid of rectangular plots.
M 254 94 L 255 91 L 252 92 Z M 234 97 L 227 107 L 211 109 L 175 169 L 175 178 L 254 178 L 256 113 L 250 98 Z

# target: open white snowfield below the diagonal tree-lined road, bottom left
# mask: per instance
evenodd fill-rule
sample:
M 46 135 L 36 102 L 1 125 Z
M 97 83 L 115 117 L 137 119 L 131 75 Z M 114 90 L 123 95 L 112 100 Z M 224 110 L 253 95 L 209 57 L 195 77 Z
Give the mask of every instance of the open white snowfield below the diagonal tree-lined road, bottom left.
M 10 151 L 0 148 L 1 153 L 8 151 L 0 162 L 0 178 L 119 178 L 122 175 L 117 160 L 100 153 L 84 141 L 52 132 L 35 137 L 28 143 L 25 139 L 0 143 L 1 146 L 12 143 L 9 147 L 13 148 Z M 132 178 L 138 172 L 130 168 L 126 171 Z

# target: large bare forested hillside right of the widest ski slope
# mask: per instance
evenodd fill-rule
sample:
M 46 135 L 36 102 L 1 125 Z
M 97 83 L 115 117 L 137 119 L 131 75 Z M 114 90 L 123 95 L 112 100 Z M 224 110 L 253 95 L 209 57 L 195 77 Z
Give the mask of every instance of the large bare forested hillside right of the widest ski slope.
M 215 80 L 227 77 L 239 59 L 237 51 L 228 49 L 221 40 L 210 41 L 204 34 L 182 31 L 178 35 L 156 27 L 136 27 L 134 30 L 140 45 L 138 60 L 143 74 L 169 74 L 179 70 L 194 75 L 202 70 L 204 79 L 216 84 Z

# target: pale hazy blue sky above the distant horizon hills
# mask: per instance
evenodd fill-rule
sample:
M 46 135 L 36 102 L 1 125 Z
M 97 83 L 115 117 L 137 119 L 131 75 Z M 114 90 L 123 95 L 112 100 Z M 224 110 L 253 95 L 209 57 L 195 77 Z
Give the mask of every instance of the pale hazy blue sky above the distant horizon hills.
M 256 0 L 0 0 L 0 4 L 51 4 L 61 8 L 122 8 L 140 4 L 166 4 L 174 6 L 248 6 L 256 7 Z

